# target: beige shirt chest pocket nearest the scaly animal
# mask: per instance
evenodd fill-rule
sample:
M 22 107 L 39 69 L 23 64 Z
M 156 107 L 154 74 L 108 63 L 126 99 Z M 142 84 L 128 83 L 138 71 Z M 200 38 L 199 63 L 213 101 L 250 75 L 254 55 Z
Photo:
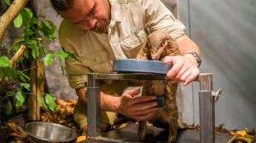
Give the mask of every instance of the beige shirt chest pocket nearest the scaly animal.
M 122 49 L 129 58 L 136 58 L 138 51 L 147 42 L 147 34 L 144 30 L 138 31 L 120 42 Z

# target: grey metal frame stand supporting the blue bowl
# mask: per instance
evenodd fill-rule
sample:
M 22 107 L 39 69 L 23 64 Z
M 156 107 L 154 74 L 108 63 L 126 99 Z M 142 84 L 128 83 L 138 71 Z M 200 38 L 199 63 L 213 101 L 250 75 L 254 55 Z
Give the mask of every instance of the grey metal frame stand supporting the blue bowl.
M 148 73 L 123 73 L 123 74 L 88 74 L 88 83 L 86 86 L 87 103 L 87 132 L 88 141 L 106 140 L 101 135 L 101 108 L 100 108 L 100 88 L 101 80 L 165 80 L 164 75 Z M 200 82 L 199 100 L 200 100 L 200 142 L 215 142 L 215 106 L 214 101 L 219 94 L 213 95 L 212 91 L 212 73 L 202 73 L 198 77 Z M 115 141 L 113 141 L 115 142 Z

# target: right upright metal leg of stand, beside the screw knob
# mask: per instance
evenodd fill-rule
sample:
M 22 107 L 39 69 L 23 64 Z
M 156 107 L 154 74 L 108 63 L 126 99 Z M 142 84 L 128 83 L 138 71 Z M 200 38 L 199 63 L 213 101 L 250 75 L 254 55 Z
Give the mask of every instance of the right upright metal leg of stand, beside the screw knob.
M 212 74 L 201 74 L 199 82 L 200 142 L 215 143 L 215 106 L 214 97 L 212 96 Z

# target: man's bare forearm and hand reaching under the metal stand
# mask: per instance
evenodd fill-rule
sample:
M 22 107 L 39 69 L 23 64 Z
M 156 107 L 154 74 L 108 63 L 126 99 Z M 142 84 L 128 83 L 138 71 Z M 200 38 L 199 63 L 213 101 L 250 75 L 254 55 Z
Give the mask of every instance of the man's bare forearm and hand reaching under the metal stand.
M 86 104 L 84 88 L 75 89 L 79 100 Z M 101 108 L 108 112 L 119 112 L 126 117 L 136 120 L 149 119 L 154 116 L 158 108 L 156 102 L 149 102 L 155 99 L 155 96 L 143 96 L 134 98 L 139 93 L 138 89 L 125 91 L 122 96 L 116 97 L 101 92 Z

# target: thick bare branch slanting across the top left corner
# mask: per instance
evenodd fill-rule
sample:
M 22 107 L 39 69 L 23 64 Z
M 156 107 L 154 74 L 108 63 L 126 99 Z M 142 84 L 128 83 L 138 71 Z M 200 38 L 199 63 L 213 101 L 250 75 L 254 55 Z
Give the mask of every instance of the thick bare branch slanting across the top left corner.
M 0 17 L 0 41 L 10 23 L 20 14 L 21 9 L 25 7 L 27 1 L 28 0 L 15 0 L 11 3 L 9 9 Z

